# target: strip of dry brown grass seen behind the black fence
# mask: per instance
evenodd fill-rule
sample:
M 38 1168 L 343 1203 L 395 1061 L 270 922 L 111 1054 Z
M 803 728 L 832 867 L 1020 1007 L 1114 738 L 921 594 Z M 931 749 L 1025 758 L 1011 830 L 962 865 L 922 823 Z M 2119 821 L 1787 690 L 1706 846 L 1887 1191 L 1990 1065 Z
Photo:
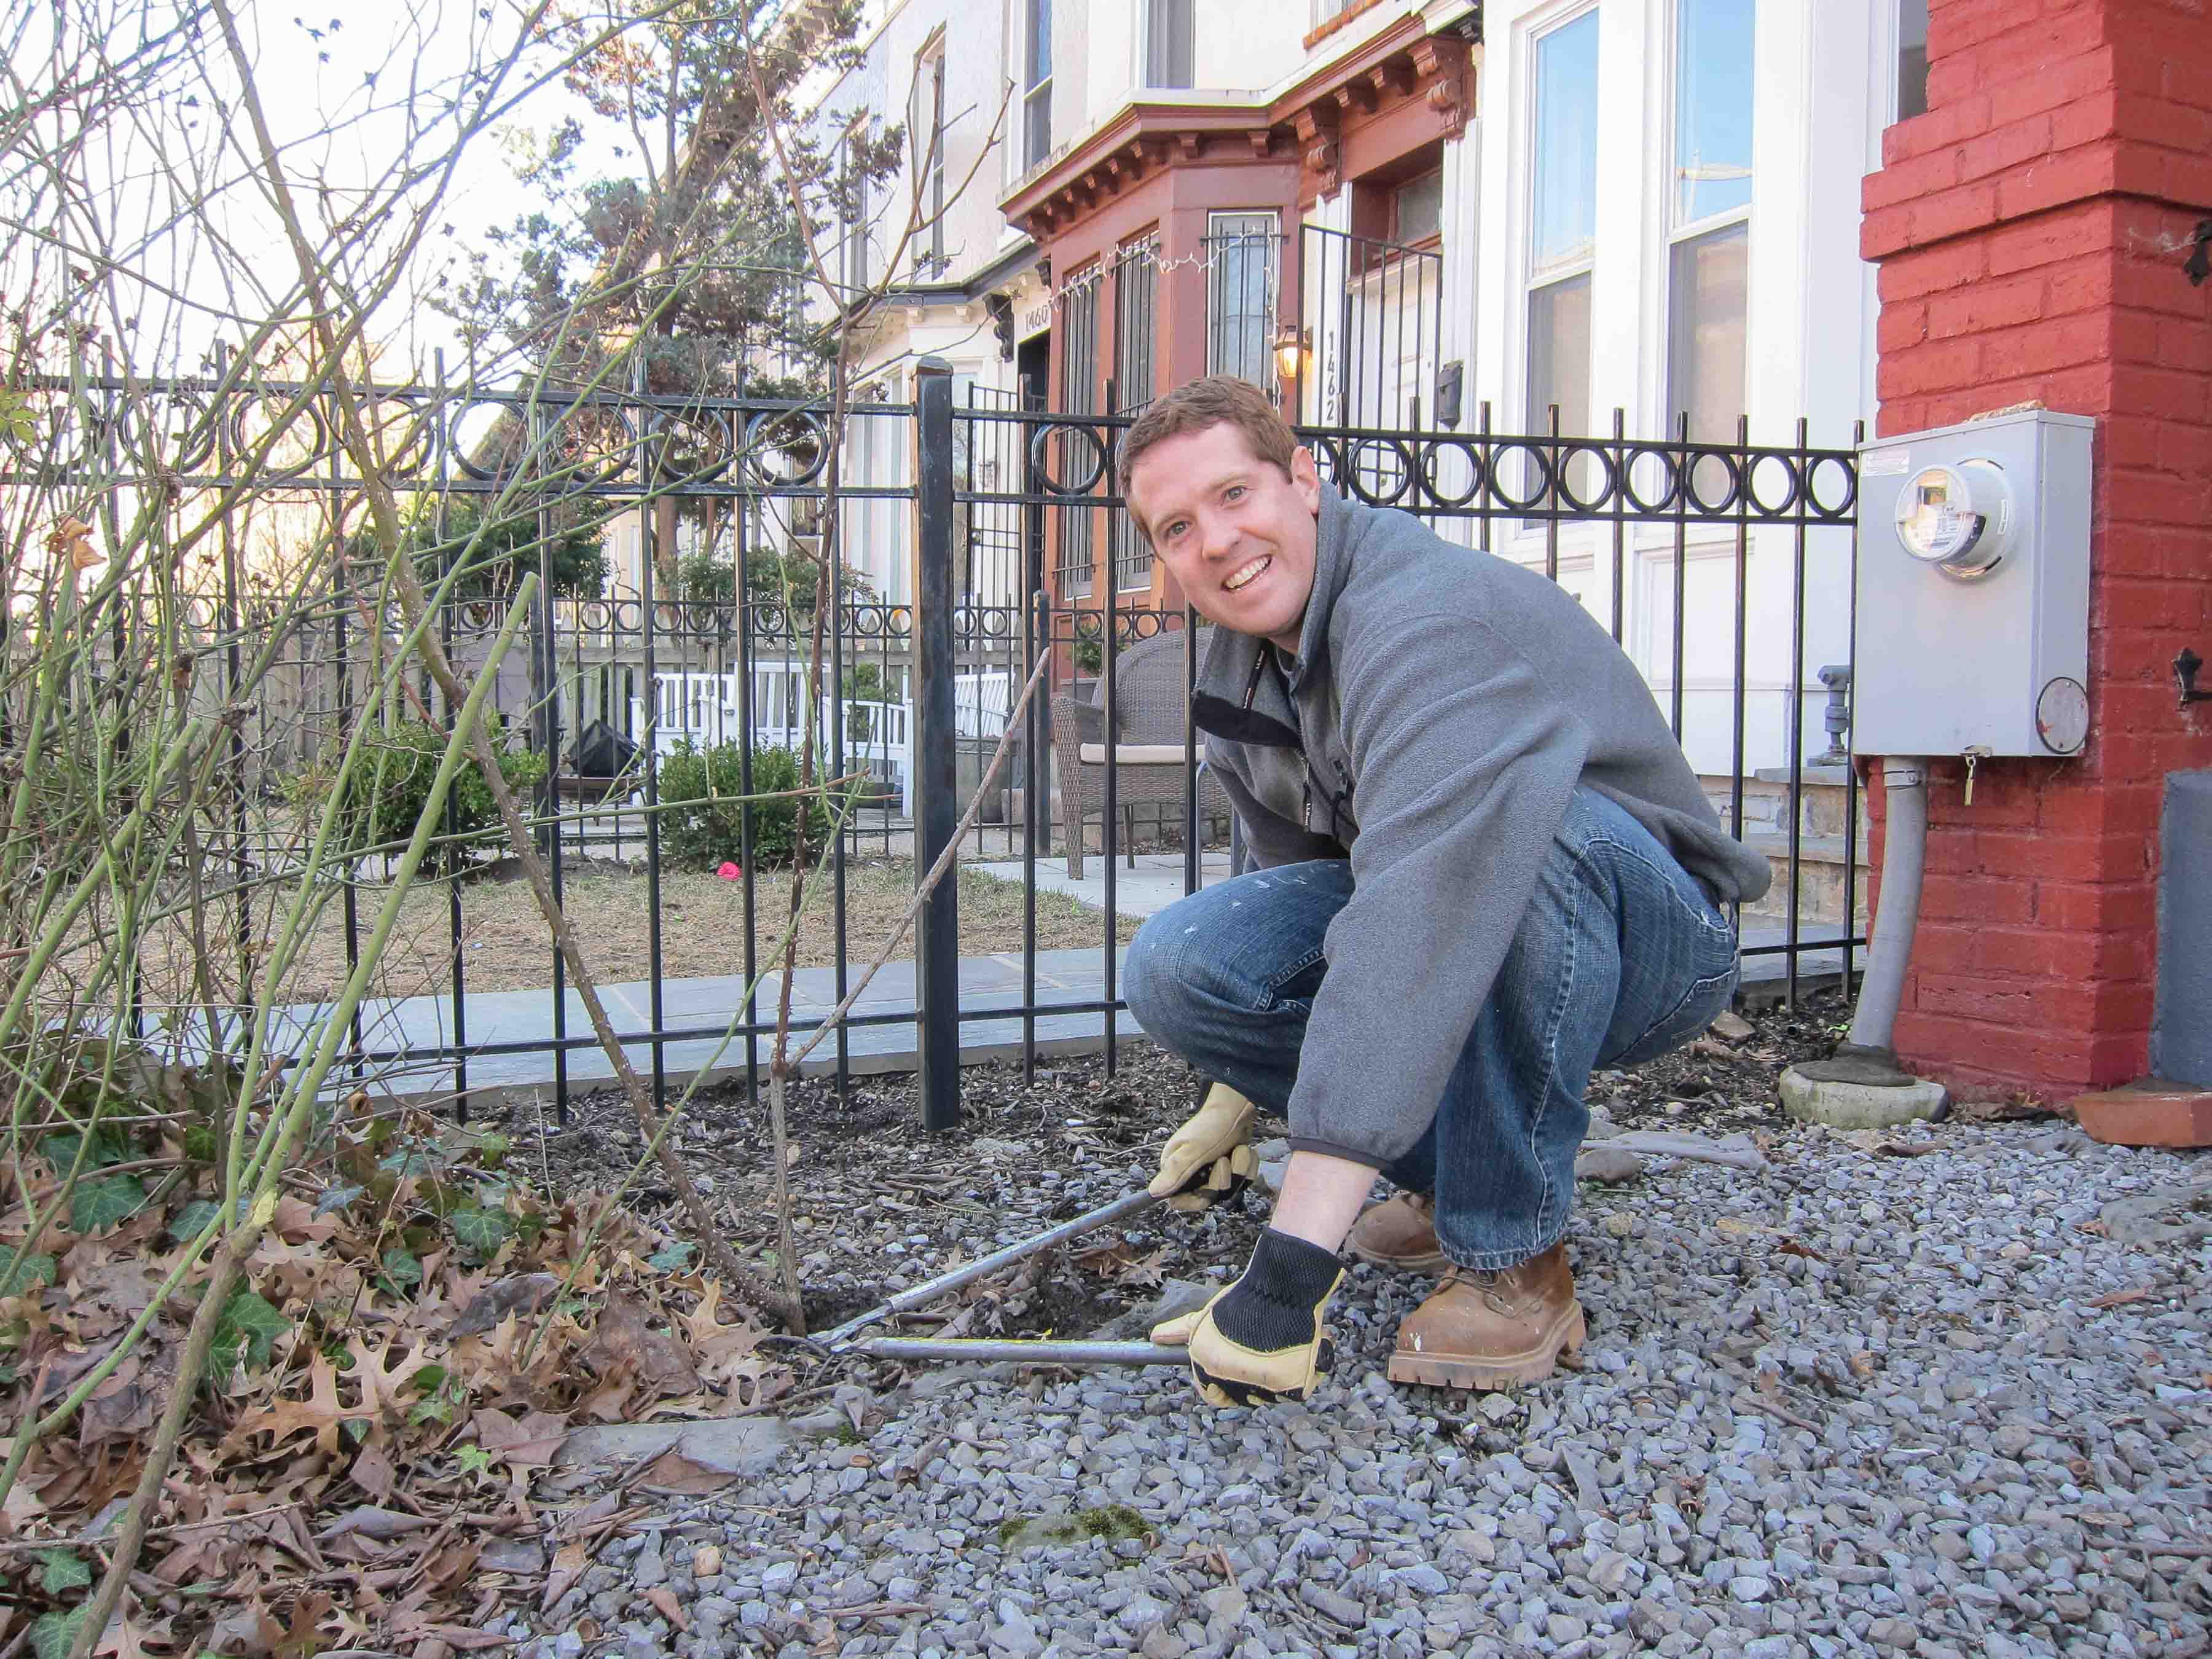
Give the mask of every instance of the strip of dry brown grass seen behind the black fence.
M 281 918 L 292 887 L 263 889 L 254 920 L 265 927 L 270 909 Z M 365 942 L 383 887 L 356 891 L 358 936 Z M 644 872 L 593 863 L 571 869 L 564 909 L 584 945 L 584 956 L 602 984 L 646 980 L 653 973 L 648 931 L 648 883 Z M 799 967 L 830 967 L 836 960 L 836 911 L 827 878 L 799 927 Z M 911 860 L 852 863 L 845 869 L 847 960 L 869 962 L 914 902 Z M 400 907 L 398 927 L 385 949 L 376 993 L 427 995 L 451 991 L 451 885 L 420 883 Z M 757 967 L 783 936 L 790 914 L 790 876 L 765 872 L 754 885 Z M 1137 936 L 1139 918 L 1124 916 L 1119 942 Z M 221 905 L 210 931 L 228 938 L 232 911 Z M 1104 942 L 1104 918 L 1066 894 L 1037 894 L 1037 949 L 1086 949 Z M 469 880 L 460 885 L 462 975 L 469 991 L 529 991 L 553 982 L 553 949 L 538 900 L 524 880 Z M 190 1000 L 181 982 L 186 929 L 168 922 L 139 951 L 142 995 L 161 1004 Z M 960 953 L 998 956 L 1022 949 L 1022 889 L 982 872 L 960 872 Z M 907 938 L 894 956 L 911 958 Z M 712 872 L 661 874 L 661 973 L 664 978 L 717 978 L 745 971 L 745 887 Z M 283 1002 L 314 1002 L 336 995 L 347 975 L 345 909 L 332 900 L 288 978 Z

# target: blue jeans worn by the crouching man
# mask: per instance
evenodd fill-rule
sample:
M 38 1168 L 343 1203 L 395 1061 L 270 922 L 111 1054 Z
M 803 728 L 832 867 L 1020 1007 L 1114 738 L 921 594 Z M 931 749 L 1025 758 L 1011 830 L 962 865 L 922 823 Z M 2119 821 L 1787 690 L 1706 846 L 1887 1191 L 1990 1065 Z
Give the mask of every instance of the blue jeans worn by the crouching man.
M 1349 898 L 1352 865 L 1325 858 L 1170 905 L 1128 947 L 1130 1011 L 1199 1073 L 1283 1113 L 1329 971 L 1323 936 Z M 1590 1073 L 1688 1042 L 1734 989 L 1728 918 L 1626 810 L 1577 790 L 1436 1117 L 1383 1175 L 1436 1197 L 1438 1243 L 1462 1267 L 1542 1254 L 1566 1232 Z

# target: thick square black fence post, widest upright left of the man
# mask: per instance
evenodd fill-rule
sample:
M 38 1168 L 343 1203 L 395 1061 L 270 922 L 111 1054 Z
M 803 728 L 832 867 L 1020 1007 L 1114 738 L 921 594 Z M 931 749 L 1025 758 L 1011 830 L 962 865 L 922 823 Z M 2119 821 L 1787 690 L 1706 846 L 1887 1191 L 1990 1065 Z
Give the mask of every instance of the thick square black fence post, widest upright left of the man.
M 916 367 L 920 458 L 914 471 L 920 522 L 920 580 L 914 646 L 920 686 L 914 699 L 914 872 L 936 865 L 960 823 L 953 768 L 953 369 L 925 356 Z M 916 1048 L 920 1051 L 922 1128 L 960 1121 L 960 885 L 951 876 L 922 905 L 914 940 Z

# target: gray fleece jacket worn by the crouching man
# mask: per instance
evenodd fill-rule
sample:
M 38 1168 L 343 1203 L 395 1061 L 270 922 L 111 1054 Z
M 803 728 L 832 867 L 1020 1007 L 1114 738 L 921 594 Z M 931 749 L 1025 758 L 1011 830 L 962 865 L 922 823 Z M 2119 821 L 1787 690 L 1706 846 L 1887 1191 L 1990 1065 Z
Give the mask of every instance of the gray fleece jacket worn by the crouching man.
M 1296 1148 L 1380 1168 L 1420 1139 L 1577 785 L 1717 902 L 1767 889 L 1571 593 L 1327 487 L 1296 659 L 1214 628 L 1194 717 L 1259 867 L 1352 858 L 1290 1097 Z

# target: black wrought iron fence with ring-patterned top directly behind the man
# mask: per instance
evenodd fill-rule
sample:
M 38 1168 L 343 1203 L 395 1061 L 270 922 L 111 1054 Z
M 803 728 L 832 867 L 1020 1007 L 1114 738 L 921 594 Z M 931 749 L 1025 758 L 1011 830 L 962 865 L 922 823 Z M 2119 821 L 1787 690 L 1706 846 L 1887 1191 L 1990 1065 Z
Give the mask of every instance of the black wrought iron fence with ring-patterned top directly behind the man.
M 611 925 L 641 936 L 624 956 L 639 971 L 615 975 L 611 1000 L 657 1091 L 699 1068 L 759 1082 L 770 1057 L 776 987 L 745 987 L 770 964 L 785 905 L 763 845 L 768 807 L 750 796 L 794 750 L 812 745 L 818 774 L 845 781 L 816 900 L 830 947 L 805 969 L 790 1020 L 805 1033 L 878 945 L 858 931 L 860 887 L 927 869 L 1006 743 L 960 856 L 1018 887 L 1018 922 L 1002 916 L 995 933 L 978 933 L 962 925 L 960 889 L 940 887 L 911 967 L 854 1009 L 825 1055 L 841 1077 L 918 1066 L 938 1124 L 958 1110 L 962 1055 L 1035 1064 L 1104 1042 L 1110 1062 L 1128 1031 L 1117 964 L 1135 885 L 1190 891 L 1237 856 L 1188 726 L 1199 619 L 1164 577 L 1126 593 L 1066 580 L 1091 568 L 1091 549 L 1133 535 L 1115 529 L 1126 513 L 1113 473 L 1128 416 L 960 403 L 938 369 L 920 387 L 916 405 L 860 405 L 836 442 L 821 409 L 745 398 L 365 394 L 431 573 L 462 551 L 449 529 L 465 507 L 478 522 L 524 518 L 549 586 L 555 531 L 597 533 L 608 566 L 597 591 L 540 595 L 493 708 L 515 748 L 542 761 L 540 847 L 564 900 L 584 880 L 641 889 Z M 365 482 L 336 442 L 327 387 L 97 380 L 49 392 L 84 442 L 49 451 L 35 478 L 0 469 L 0 487 L 150 489 L 148 471 L 117 469 L 100 442 L 128 400 L 161 400 L 186 431 L 161 458 L 159 487 L 177 502 L 257 482 L 232 467 L 257 420 L 288 422 L 259 482 L 274 467 L 285 489 L 325 504 L 358 500 Z M 1747 962 L 1778 964 L 1787 995 L 1807 973 L 1847 978 L 1860 942 L 1858 792 L 1847 765 L 1809 765 L 1807 741 L 1823 741 L 1812 732 L 1829 712 L 1816 670 L 1851 653 L 1854 451 L 1812 447 L 1803 422 L 1792 445 L 1756 447 L 1747 434 L 1734 445 L 1692 445 L 1681 429 L 1632 438 L 1621 416 L 1595 438 L 1495 434 L 1486 409 L 1464 434 L 1332 416 L 1303 436 L 1338 489 L 1544 568 L 1608 622 L 1725 821 L 1776 863 L 1776 900 L 1743 918 Z M 221 440 L 204 440 L 208 429 Z M 869 460 L 885 453 L 916 453 L 914 480 L 885 482 L 898 476 Z M 241 807 L 210 865 L 265 863 L 268 814 L 363 717 L 365 666 L 396 639 L 389 606 L 347 580 L 345 544 L 314 540 L 330 518 L 305 515 L 307 546 L 290 551 L 294 577 L 321 568 L 330 580 L 312 606 L 283 613 L 285 672 L 239 754 L 252 812 Z M 827 606 L 816 611 L 823 557 Z M 226 571 L 204 602 L 208 639 L 252 633 L 254 575 L 237 562 Z M 507 619 L 502 580 L 484 577 L 438 617 L 465 668 Z M 1044 684 L 1015 719 L 1040 657 Z M 451 719 L 427 677 L 414 708 L 431 726 Z M 1179 759 L 1164 763 L 1164 748 Z M 717 805 L 730 794 L 748 801 Z M 701 900 L 699 883 L 723 867 L 734 878 Z M 347 967 L 361 949 L 354 887 L 380 874 L 363 867 L 347 885 Z M 1062 914 L 1046 949 L 1040 902 L 1055 887 L 1093 909 Z M 571 1088 L 604 1075 L 542 936 L 526 947 L 542 973 L 487 989 L 493 898 L 482 872 L 447 885 L 422 982 L 392 984 L 356 1022 L 352 1073 L 451 1093 L 462 1110 L 484 1091 L 538 1086 L 564 1108 Z M 672 907 L 701 902 L 726 918 L 712 945 L 670 947 Z M 139 1018 L 159 1022 L 161 1009 Z

